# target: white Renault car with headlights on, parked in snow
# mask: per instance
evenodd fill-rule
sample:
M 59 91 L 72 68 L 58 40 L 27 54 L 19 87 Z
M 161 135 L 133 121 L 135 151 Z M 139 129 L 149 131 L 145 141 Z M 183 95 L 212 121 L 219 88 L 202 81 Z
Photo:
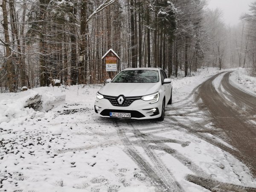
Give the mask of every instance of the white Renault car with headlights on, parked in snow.
M 172 80 L 161 68 L 127 68 L 107 82 L 94 105 L 101 117 L 163 121 L 172 104 Z

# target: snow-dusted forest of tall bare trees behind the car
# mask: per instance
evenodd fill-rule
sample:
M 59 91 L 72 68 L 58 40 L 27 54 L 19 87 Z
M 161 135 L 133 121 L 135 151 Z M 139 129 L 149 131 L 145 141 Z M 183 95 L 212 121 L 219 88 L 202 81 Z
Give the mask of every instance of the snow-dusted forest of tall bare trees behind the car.
M 244 67 L 256 76 L 256 2 L 227 26 L 205 0 L 0 0 L 0 91 L 97 84 L 113 78 L 102 55 L 169 77 L 201 67 Z

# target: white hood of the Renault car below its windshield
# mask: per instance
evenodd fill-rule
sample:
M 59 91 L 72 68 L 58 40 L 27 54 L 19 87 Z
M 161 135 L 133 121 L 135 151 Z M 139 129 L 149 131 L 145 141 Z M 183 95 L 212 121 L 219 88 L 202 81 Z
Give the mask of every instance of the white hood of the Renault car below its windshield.
M 160 83 L 108 83 L 99 90 L 99 93 L 107 96 L 126 97 L 144 96 L 156 93 L 160 88 Z

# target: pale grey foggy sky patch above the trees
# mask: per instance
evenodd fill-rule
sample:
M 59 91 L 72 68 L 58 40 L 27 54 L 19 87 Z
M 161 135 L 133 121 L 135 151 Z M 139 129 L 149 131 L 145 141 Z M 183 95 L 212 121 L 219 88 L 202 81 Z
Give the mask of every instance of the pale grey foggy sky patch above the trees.
M 223 11 L 223 19 L 227 25 L 236 25 L 243 13 L 249 12 L 249 4 L 255 0 L 209 0 L 210 9 Z

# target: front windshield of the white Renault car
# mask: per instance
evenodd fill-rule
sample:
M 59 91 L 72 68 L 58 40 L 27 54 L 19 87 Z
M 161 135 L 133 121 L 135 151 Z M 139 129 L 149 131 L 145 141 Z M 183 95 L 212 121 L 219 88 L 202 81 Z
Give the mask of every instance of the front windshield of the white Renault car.
M 157 70 L 127 70 L 121 71 L 112 83 L 157 83 L 159 72 Z

